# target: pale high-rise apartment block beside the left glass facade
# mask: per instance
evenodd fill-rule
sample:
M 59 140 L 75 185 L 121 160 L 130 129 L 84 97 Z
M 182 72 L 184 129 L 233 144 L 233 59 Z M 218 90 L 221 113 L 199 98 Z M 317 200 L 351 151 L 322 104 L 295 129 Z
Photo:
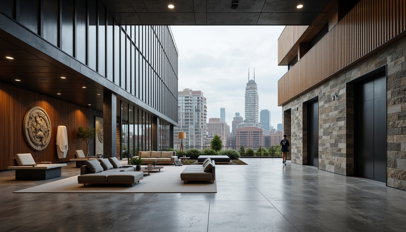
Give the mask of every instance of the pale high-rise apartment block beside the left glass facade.
M 207 106 L 206 98 L 202 91 L 184 89 L 178 92 L 178 126 L 174 128 L 174 147 L 179 148 L 181 139 L 177 138 L 178 132 L 186 132 L 183 139 L 185 149 L 201 149 L 205 145 L 207 131 Z

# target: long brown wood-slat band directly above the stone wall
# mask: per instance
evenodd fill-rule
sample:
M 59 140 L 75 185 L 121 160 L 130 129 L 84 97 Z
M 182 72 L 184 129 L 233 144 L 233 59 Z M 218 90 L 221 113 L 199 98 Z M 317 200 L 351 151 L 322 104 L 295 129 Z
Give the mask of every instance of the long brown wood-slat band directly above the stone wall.
M 278 105 L 374 54 L 405 30 L 404 0 L 361 0 L 278 81 Z M 287 80 L 296 82 L 286 85 Z M 292 85 L 297 91 L 287 91 Z

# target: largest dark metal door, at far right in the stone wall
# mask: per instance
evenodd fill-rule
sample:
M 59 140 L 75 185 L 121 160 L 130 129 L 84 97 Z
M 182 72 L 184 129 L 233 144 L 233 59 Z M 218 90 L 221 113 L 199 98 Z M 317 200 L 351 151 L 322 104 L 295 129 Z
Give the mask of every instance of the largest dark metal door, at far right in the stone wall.
M 357 176 L 386 182 L 386 76 L 355 85 L 355 167 Z

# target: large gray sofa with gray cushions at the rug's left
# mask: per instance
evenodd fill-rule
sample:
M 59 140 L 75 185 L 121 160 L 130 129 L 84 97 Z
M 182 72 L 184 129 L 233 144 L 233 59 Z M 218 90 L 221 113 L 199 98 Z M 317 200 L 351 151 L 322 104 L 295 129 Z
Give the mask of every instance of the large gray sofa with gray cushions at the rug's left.
M 108 162 L 106 160 L 108 159 L 99 159 L 102 164 L 106 164 Z M 86 184 L 131 184 L 133 186 L 135 182 L 140 182 L 140 180 L 144 179 L 144 173 L 142 171 L 134 171 L 135 167 L 120 166 L 114 167 L 107 163 L 106 167 L 106 165 L 100 165 L 97 160 L 86 161 L 86 165 L 80 167 L 78 183 L 83 184 L 83 186 L 86 186 Z

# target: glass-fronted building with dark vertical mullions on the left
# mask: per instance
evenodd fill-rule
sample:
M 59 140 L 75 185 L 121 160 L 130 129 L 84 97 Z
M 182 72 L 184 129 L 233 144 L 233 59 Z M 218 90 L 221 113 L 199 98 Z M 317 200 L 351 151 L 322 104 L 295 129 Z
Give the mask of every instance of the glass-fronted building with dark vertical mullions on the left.
M 99 91 L 99 96 L 81 98 L 72 91 L 72 97 L 60 95 L 62 100 L 103 115 L 103 95 L 117 95 L 117 156 L 173 146 L 178 50 L 169 26 L 119 25 L 98 0 L 3 0 L 0 13 L 39 37 L 41 44 L 30 44 L 39 52 L 52 57 L 47 48 L 62 51 L 59 58 L 73 69 L 69 72 L 77 73 L 78 83 L 91 83 L 86 90 Z M 39 88 L 32 91 L 48 94 Z

